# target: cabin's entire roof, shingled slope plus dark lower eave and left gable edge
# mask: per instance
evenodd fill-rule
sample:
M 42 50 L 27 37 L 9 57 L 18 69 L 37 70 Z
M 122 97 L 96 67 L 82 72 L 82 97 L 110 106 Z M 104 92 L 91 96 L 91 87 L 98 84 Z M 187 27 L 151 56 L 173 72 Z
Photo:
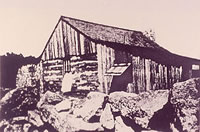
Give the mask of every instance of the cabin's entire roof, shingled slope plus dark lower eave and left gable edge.
M 110 42 L 111 44 L 122 44 L 122 45 L 128 45 L 128 46 L 139 47 L 139 48 L 144 48 L 144 49 L 153 49 L 153 50 L 159 51 L 159 52 L 156 52 L 158 54 L 155 54 L 154 58 L 156 57 L 160 61 L 164 61 L 164 62 L 165 61 L 172 62 L 178 65 L 181 65 L 182 63 L 200 64 L 199 59 L 184 57 L 184 56 L 180 56 L 180 55 L 169 52 L 168 50 L 159 46 L 156 42 L 147 38 L 140 31 L 107 26 L 103 24 L 97 24 L 97 23 L 65 17 L 65 16 L 61 16 L 56 27 L 58 26 L 60 21 L 64 21 L 68 23 L 75 30 L 79 31 L 80 33 L 82 33 L 83 35 L 87 36 L 88 38 L 94 41 L 103 41 L 103 42 Z M 53 35 L 56 27 L 54 28 L 51 36 Z M 47 47 L 47 44 L 45 48 Z M 39 58 L 41 58 L 43 52 L 41 53 Z M 163 58 L 167 58 L 167 59 L 163 59 Z

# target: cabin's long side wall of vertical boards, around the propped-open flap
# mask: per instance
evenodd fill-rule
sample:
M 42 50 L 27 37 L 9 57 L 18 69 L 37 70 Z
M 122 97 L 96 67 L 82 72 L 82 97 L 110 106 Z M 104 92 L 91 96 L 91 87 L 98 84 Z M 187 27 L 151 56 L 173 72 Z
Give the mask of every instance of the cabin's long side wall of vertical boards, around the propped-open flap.
M 110 89 L 111 84 L 114 85 L 113 81 L 123 76 L 123 74 L 121 77 L 106 74 L 106 71 L 115 63 L 131 62 L 132 64 L 130 66 L 131 70 L 129 71 L 132 73 L 130 76 L 132 82 L 127 81 L 127 88 L 123 91 L 140 93 L 148 90 L 169 89 L 174 83 L 181 81 L 182 77 L 182 67 L 163 65 L 152 59 L 135 56 L 130 53 L 124 54 L 123 50 L 120 51 L 119 49 L 111 48 L 103 44 L 97 44 L 97 60 L 99 89 L 105 93 L 110 93 L 112 91 Z M 119 90 L 120 88 L 116 89 Z

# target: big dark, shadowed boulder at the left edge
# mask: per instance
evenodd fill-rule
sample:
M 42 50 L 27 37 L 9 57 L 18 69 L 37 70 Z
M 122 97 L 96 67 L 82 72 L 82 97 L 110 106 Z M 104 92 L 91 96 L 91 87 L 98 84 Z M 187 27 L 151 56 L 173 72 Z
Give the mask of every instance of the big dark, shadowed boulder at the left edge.
M 36 108 L 40 98 L 37 87 L 16 88 L 0 100 L 1 118 L 9 119 L 27 115 L 28 110 Z

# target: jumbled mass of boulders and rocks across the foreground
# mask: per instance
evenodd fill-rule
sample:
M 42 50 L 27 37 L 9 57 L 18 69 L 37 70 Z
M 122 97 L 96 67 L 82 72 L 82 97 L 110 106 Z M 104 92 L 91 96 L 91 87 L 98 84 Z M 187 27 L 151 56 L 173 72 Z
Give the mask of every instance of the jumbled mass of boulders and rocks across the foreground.
M 198 132 L 200 78 L 140 94 L 17 88 L 0 101 L 0 131 Z

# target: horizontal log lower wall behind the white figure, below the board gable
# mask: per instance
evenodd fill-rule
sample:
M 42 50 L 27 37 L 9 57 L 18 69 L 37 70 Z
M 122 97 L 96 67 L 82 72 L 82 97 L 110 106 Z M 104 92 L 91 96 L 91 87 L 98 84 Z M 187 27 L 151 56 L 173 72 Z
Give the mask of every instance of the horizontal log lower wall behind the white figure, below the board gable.
M 66 72 L 74 73 L 75 84 L 78 89 L 95 90 L 99 87 L 97 72 L 97 57 L 71 57 L 70 60 L 44 61 L 43 65 L 43 92 L 60 91 L 62 79 Z M 50 82 L 53 82 L 51 86 Z

